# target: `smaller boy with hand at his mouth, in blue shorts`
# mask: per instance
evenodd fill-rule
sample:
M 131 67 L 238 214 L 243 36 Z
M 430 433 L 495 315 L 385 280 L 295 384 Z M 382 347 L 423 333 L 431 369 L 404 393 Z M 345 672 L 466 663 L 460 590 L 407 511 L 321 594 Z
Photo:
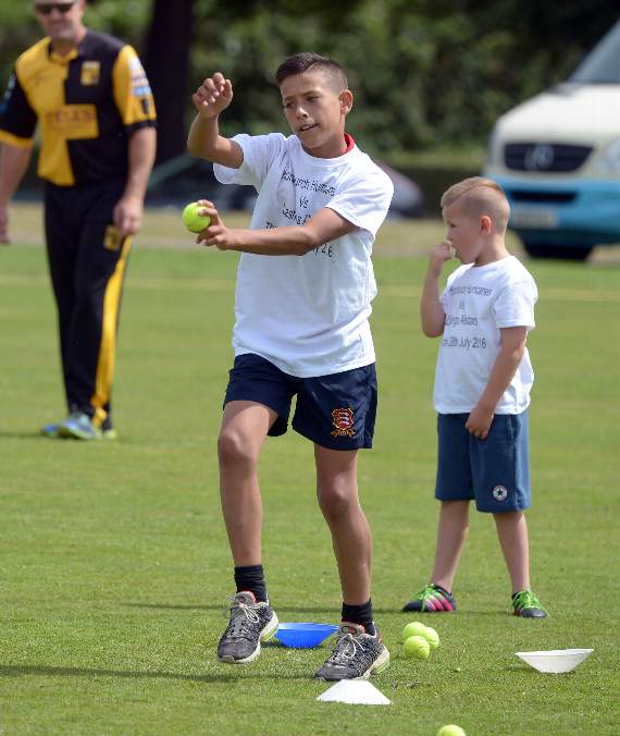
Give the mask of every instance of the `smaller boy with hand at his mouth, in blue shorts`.
M 432 254 L 421 303 L 422 330 L 442 336 L 435 373 L 441 501 L 435 566 L 404 611 L 456 610 L 452 580 L 469 527 L 469 504 L 493 514 L 512 584 L 516 615 L 547 614 L 530 589 L 528 406 L 534 381 L 525 342 L 536 284 L 504 242 L 510 209 L 501 187 L 474 176 L 442 197 L 447 242 Z M 450 248 L 461 261 L 439 296 Z

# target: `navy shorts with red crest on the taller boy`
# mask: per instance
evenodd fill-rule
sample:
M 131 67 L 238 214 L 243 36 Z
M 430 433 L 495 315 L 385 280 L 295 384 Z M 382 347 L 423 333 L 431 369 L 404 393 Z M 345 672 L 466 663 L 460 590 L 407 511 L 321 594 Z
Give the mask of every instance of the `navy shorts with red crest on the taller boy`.
M 372 447 L 376 417 L 374 364 L 342 373 L 297 378 L 251 353 L 237 355 L 224 397 L 251 401 L 277 412 L 269 434 L 286 432 L 290 402 L 297 395 L 293 429 L 322 447 Z

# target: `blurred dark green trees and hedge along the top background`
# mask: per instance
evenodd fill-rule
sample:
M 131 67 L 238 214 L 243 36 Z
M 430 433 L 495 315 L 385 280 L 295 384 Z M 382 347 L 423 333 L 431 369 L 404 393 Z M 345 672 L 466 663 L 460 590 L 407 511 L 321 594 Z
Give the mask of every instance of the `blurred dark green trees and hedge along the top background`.
M 273 72 L 314 50 L 349 72 L 350 132 L 397 162 L 484 145 L 497 116 L 565 79 L 618 20 L 618 0 L 90 0 L 87 22 L 134 45 L 160 118 L 159 160 L 185 150 L 189 95 L 235 83 L 226 134 L 286 131 Z M 0 84 L 38 38 L 29 3 L 0 4 Z

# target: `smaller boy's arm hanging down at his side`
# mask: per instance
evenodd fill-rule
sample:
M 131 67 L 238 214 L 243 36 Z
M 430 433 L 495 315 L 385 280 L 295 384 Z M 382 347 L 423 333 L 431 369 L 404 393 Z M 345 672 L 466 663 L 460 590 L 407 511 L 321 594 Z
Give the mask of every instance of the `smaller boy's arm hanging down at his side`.
M 517 368 L 519 368 L 528 340 L 526 327 L 506 327 L 501 328 L 499 332 L 501 333 L 499 353 L 493 365 L 486 388 L 466 422 L 466 429 L 470 434 L 481 440 L 485 440 L 488 434 L 495 407 L 510 385 Z

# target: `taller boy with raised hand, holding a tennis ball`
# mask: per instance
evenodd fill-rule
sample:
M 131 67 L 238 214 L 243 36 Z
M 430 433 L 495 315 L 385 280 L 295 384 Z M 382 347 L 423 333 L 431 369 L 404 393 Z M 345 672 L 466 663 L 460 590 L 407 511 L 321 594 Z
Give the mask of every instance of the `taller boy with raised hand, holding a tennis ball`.
M 276 83 L 289 137 L 221 136 L 218 121 L 233 86 L 219 72 L 193 96 L 198 114 L 189 151 L 213 161 L 221 182 L 258 192 L 250 230 L 227 229 L 212 203 L 201 200 L 211 224 L 197 238 L 243 254 L 218 446 L 236 593 L 218 657 L 249 662 L 277 629 L 261 561 L 257 465 L 266 436 L 286 431 L 296 395 L 293 428 L 314 445 L 319 505 L 343 589 L 338 640 L 315 676 L 368 677 L 388 665 L 389 654 L 373 622 L 372 540 L 357 459 L 372 445 L 376 410 L 370 256 L 393 186 L 345 133 L 352 94 L 337 63 L 299 53 L 278 68 Z

